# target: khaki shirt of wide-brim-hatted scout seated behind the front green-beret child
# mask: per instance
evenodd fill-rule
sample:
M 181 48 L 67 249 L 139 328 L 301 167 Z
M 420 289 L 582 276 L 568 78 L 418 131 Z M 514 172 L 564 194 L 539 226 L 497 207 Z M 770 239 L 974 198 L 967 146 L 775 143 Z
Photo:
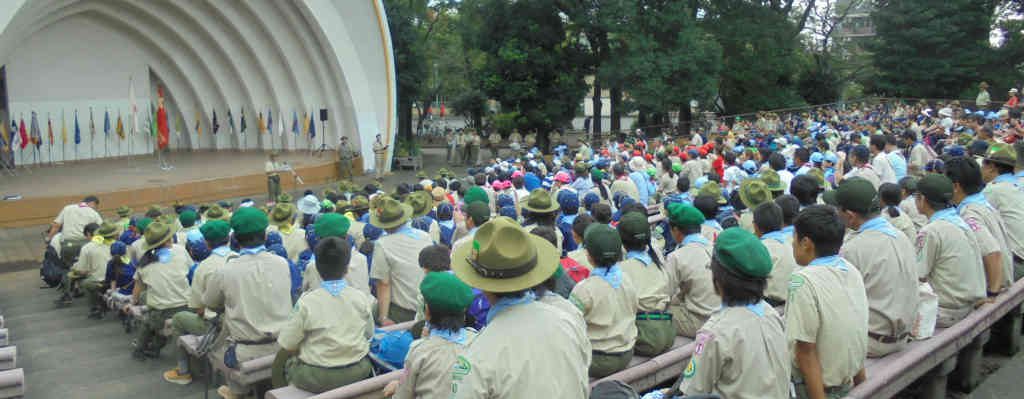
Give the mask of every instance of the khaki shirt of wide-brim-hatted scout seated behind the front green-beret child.
M 423 280 L 420 251 L 431 245 L 426 232 L 409 223 L 374 243 L 374 268 L 370 277 L 391 283 L 391 305 L 413 312 L 420 308 L 416 299 Z

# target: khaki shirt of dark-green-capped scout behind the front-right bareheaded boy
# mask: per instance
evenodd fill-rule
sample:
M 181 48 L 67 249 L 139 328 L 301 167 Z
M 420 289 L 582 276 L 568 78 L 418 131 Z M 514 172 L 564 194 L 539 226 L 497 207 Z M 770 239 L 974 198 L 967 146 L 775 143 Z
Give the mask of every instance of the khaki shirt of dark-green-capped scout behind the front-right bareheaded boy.
M 878 230 L 851 235 L 840 254 L 863 278 L 867 330 L 886 337 L 910 332 L 918 317 L 918 265 L 910 239 Z

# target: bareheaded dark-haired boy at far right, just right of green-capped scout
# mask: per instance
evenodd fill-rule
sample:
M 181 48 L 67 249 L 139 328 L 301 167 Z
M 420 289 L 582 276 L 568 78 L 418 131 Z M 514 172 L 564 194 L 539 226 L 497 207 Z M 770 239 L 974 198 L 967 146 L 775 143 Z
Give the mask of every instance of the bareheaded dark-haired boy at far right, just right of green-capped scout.
M 1007 248 L 1006 226 L 998 211 L 981 192 L 985 184 L 981 168 L 972 159 L 954 158 L 946 163 L 945 174 L 953 182 L 952 204 L 956 213 L 971 226 L 978 240 L 988 296 L 998 295 L 1013 283 L 1013 255 Z

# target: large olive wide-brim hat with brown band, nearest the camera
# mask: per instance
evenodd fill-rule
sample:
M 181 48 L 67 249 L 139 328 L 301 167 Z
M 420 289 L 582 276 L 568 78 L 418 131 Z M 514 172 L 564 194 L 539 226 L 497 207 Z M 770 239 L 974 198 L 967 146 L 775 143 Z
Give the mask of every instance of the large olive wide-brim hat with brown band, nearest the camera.
M 452 254 L 452 270 L 470 286 L 488 293 L 513 293 L 544 282 L 559 267 L 555 246 L 528 233 L 514 220 L 484 223 L 473 242 Z

